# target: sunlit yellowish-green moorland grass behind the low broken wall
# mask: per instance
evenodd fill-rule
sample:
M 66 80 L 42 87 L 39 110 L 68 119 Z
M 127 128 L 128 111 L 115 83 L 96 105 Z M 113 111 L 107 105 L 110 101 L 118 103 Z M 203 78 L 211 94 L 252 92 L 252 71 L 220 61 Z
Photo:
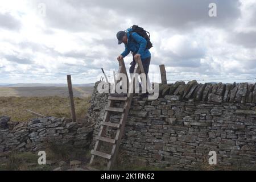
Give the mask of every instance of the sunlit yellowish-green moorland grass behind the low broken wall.
M 74 97 L 77 121 L 82 121 L 87 114 L 90 97 Z M 26 111 L 53 116 L 57 118 L 71 118 L 68 97 L 0 97 L 0 115 L 11 117 L 11 121 L 29 121 L 37 117 Z

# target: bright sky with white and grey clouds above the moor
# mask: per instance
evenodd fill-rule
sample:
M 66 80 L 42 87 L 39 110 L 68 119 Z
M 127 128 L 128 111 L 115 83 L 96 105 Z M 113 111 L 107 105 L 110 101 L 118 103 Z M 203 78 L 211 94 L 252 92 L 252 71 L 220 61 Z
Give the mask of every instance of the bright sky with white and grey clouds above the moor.
M 100 68 L 112 76 L 124 49 L 115 35 L 133 24 L 151 33 L 151 75 L 165 64 L 168 82 L 255 82 L 242 80 L 256 78 L 254 0 L 0 2 L 0 84 L 66 83 L 66 75 L 90 83 Z

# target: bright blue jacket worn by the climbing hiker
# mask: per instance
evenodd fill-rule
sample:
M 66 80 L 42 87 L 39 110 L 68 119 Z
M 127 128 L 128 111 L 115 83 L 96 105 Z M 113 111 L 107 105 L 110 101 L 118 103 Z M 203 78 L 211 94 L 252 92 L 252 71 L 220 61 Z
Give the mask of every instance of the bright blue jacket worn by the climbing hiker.
M 133 36 L 133 40 L 130 38 L 130 31 L 131 28 L 128 28 L 126 30 L 127 32 L 127 44 L 125 44 L 125 51 L 121 53 L 123 57 L 129 55 L 130 51 L 134 53 L 139 53 L 141 55 L 141 59 L 146 59 L 147 57 L 151 56 L 150 51 L 148 49 L 145 50 L 147 45 L 147 40 L 144 39 L 142 36 L 137 34 L 136 32 L 131 32 L 131 35 Z

